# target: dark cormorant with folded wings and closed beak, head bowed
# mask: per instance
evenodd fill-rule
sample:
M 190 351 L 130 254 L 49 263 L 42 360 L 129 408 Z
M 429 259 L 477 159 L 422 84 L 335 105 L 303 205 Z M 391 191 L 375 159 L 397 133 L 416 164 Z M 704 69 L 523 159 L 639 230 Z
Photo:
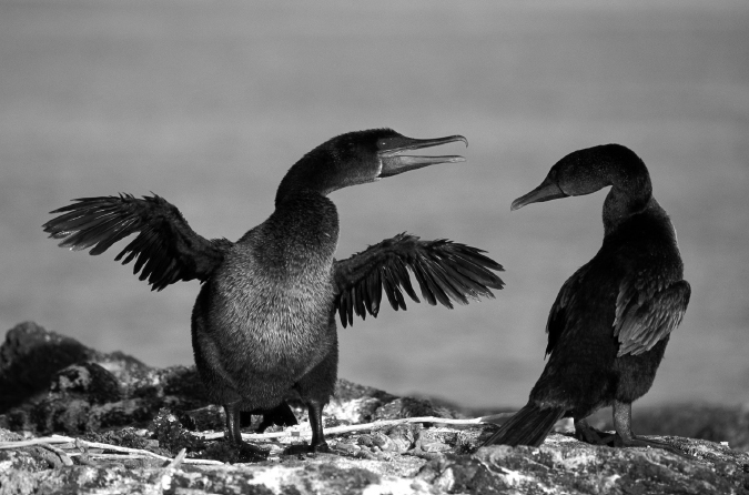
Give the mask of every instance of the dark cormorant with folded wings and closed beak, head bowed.
M 635 436 L 631 403 L 652 385 L 669 335 L 689 302 L 676 231 L 652 196 L 642 160 L 619 144 L 575 151 L 544 182 L 513 202 L 590 194 L 610 185 L 604 202 L 604 243 L 561 286 L 548 316 L 549 361 L 528 403 L 484 445 L 540 445 L 557 420 L 573 417 L 579 440 L 615 446 L 665 442 Z M 586 417 L 613 406 L 616 435 Z

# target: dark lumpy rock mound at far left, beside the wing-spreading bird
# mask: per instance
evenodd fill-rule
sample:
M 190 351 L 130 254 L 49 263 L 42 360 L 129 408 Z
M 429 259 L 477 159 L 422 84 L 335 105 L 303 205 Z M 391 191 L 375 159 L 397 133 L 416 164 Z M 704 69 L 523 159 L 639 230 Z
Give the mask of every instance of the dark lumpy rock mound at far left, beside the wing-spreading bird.
M 0 427 L 9 430 L 80 434 L 145 427 L 164 406 L 189 411 L 210 405 L 194 366 L 152 368 L 34 323 L 11 329 L 0 356 L 0 390 L 10 397 L 0 402 Z

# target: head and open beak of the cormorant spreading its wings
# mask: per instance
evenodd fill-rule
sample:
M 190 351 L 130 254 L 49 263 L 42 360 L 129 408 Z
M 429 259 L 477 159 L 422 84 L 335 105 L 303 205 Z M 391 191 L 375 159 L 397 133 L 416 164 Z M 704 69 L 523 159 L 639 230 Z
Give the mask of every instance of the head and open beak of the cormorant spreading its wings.
M 292 166 L 284 176 L 276 201 L 290 192 L 307 190 L 327 195 L 350 185 L 375 182 L 436 163 L 464 162 L 458 155 L 428 156 L 408 151 L 455 141 L 468 145 L 462 135 L 413 139 L 392 129 L 370 129 L 341 134 L 318 145 Z

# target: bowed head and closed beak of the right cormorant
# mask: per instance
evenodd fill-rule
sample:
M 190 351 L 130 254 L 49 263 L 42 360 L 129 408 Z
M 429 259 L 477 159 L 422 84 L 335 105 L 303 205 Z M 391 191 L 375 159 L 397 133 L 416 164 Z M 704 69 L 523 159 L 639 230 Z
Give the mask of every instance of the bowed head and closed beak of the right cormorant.
M 621 144 L 603 144 L 569 153 L 551 166 L 540 185 L 513 201 L 512 210 L 530 203 L 594 193 L 607 185 L 631 198 L 651 193 L 645 163 Z

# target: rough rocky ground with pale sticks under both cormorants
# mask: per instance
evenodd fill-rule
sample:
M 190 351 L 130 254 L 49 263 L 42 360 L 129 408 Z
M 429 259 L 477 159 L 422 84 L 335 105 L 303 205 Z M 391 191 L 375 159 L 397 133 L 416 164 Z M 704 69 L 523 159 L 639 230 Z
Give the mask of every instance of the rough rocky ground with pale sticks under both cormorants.
M 344 380 L 325 408 L 333 453 L 285 455 L 308 432 L 295 413 L 301 425 L 263 435 L 249 423 L 269 457 L 243 463 L 193 367 L 151 368 L 23 323 L 0 347 L 0 495 L 749 493 L 747 407 L 636 410 L 636 431 L 685 456 L 590 446 L 564 423 L 538 448 L 478 448 L 494 426 L 459 421 L 475 412 Z

